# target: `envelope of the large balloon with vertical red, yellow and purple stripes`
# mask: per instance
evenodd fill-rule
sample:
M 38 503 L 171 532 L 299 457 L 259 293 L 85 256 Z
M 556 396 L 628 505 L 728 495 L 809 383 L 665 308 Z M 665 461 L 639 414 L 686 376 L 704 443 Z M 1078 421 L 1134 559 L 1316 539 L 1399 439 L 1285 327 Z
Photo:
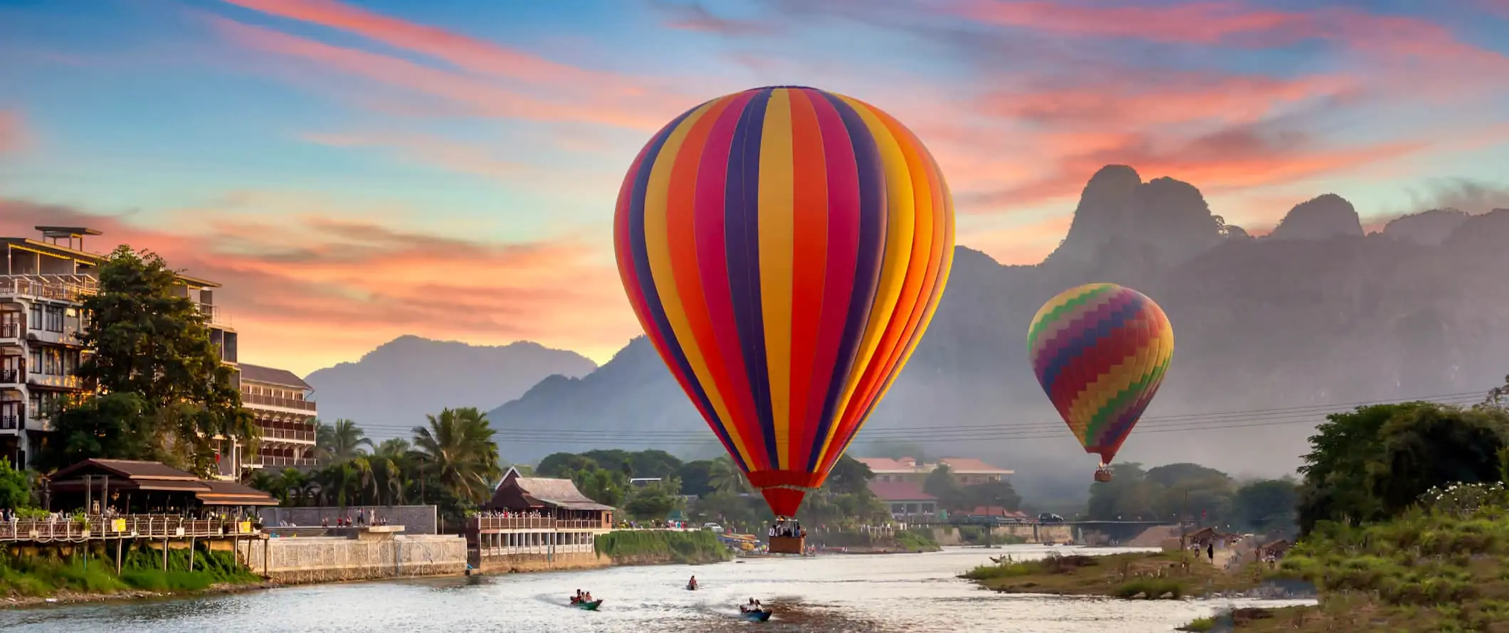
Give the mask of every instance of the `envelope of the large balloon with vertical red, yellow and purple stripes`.
M 758 87 L 656 133 L 614 220 L 644 333 L 771 511 L 794 515 L 937 309 L 943 173 L 874 106 Z

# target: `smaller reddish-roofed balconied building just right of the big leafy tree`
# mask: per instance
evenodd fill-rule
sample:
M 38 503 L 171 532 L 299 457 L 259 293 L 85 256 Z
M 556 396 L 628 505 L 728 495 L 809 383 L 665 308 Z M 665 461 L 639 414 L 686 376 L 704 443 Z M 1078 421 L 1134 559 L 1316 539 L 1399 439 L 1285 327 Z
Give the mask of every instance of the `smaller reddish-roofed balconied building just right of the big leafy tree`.
M 240 467 L 314 466 L 314 387 L 291 371 L 241 363 L 241 407 L 257 416 L 263 439 Z

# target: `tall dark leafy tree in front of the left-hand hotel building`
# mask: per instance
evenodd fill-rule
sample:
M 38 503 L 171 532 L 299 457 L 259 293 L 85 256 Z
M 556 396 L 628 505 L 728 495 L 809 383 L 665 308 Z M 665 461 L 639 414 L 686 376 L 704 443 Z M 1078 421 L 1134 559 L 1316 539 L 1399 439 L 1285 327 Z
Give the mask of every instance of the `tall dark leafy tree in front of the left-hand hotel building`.
M 186 467 L 207 475 L 214 470 L 216 437 L 255 446 L 258 430 L 204 313 L 181 286 L 152 252 L 121 246 L 106 256 L 100 291 L 83 300 L 89 324 L 80 342 L 94 353 L 78 365 L 78 377 L 95 393 L 137 395 L 146 414 L 169 427 L 160 439 Z

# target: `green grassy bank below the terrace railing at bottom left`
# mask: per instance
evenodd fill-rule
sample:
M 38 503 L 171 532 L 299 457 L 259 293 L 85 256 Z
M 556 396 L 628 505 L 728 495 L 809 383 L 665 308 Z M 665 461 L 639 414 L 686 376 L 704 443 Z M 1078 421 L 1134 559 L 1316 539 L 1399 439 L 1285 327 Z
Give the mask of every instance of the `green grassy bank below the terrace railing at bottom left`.
M 190 567 L 187 549 L 169 550 L 164 571 L 161 550 L 127 550 L 119 574 L 115 573 L 115 561 L 104 555 L 104 549 L 95 549 L 86 564 L 81 552 L 66 558 L 51 549 L 39 553 L 6 552 L 0 555 L 0 597 L 12 604 L 29 604 L 47 598 L 77 601 L 222 591 L 263 582 L 237 564 L 229 552 L 199 549 Z

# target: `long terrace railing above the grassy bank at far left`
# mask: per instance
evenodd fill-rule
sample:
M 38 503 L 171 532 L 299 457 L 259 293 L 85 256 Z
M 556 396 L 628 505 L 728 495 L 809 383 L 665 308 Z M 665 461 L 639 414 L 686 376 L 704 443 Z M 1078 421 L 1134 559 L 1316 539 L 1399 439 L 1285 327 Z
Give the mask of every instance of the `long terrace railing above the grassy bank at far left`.
M 0 521 L 0 541 L 85 541 L 100 538 L 187 538 L 252 535 L 258 531 L 244 520 L 201 520 L 172 515 L 92 515 L 83 521 L 72 517 L 20 518 Z

